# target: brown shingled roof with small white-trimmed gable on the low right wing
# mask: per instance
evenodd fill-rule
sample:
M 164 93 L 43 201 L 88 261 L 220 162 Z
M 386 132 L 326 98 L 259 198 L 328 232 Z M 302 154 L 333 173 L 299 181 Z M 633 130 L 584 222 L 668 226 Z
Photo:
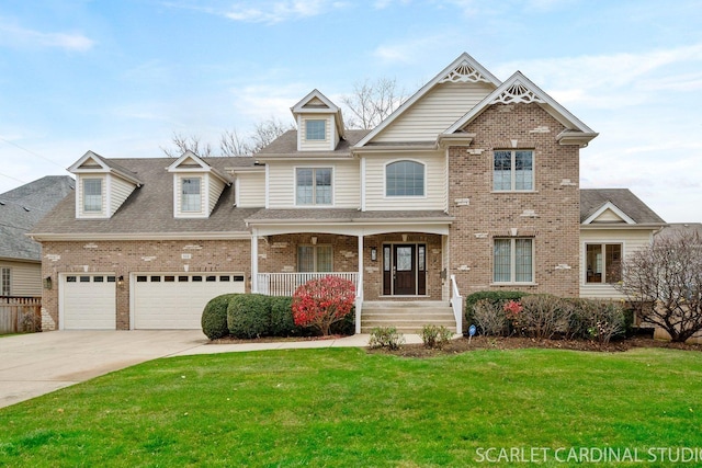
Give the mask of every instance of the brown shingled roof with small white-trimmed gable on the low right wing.
M 664 226 L 663 220 L 653 209 L 634 195 L 629 189 L 581 189 L 580 222 L 597 225 L 597 218 L 605 210 L 611 210 L 622 219 L 622 225 Z M 611 222 L 608 222 L 611 224 Z

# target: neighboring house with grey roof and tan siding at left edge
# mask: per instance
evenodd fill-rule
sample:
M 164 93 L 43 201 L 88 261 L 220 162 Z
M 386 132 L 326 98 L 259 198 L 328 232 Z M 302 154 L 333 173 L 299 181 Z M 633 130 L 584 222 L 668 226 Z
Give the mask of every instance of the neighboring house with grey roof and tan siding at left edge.
M 0 194 L 0 296 L 42 296 L 42 246 L 26 233 L 73 186 L 68 175 L 47 175 Z

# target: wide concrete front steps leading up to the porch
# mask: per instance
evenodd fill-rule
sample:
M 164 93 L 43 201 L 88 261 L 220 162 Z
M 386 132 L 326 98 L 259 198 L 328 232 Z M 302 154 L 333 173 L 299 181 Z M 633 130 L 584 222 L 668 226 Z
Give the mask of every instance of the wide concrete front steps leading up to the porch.
M 395 327 L 400 333 L 419 333 L 422 327 L 434 324 L 456 332 L 453 309 L 446 301 L 372 301 L 363 304 L 361 333 L 376 327 Z

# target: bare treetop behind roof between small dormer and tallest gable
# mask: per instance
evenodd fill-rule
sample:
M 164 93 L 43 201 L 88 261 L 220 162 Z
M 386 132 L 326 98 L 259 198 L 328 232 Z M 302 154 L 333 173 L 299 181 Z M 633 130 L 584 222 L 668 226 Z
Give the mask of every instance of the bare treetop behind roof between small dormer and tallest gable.
M 380 78 L 376 81 L 356 82 L 353 93 L 341 98 L 351 111 L 347 118 L 349 128 L 370 129 L 383 122 L 407 100 L 404 90 L 397 88 L 395 79 Z

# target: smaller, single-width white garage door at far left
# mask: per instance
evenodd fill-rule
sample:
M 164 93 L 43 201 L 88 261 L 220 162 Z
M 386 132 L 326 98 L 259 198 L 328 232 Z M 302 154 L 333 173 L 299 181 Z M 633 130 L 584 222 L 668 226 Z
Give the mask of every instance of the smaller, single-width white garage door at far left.
M 64 330 L 115 330 L 115 277 L 112 274 L 63 275 Z

